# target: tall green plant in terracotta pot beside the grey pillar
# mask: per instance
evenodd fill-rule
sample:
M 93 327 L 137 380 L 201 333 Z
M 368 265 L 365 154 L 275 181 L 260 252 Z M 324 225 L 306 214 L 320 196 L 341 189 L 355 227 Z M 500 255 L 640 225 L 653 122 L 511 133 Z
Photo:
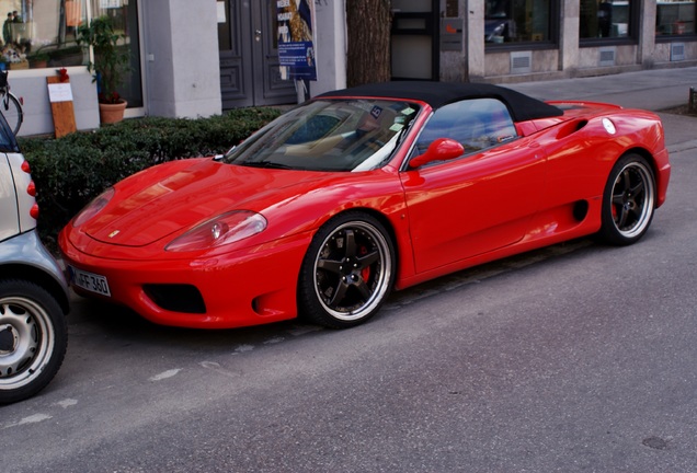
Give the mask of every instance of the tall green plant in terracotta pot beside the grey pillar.
M 118 44 L 124 37 L 114 30 L 108 16 L 99 16 L 78 26 L 78 45 L 91 46 L 94 51 L 94 62 L 88 62 L 88 70 L 92 72 L 92 81 L 98 83 L 102 123 L 121 122 L 126 109 L 126 101 L 116 91 L 130 69 L 127 46 Z

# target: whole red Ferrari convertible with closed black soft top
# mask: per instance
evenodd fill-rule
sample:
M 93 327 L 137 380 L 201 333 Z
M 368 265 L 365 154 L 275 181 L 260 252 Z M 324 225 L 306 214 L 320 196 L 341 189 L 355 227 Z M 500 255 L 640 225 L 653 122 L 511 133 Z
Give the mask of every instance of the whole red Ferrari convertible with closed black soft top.
M 597 234 L 630 244 L 670 176 L 654 114 L 489 84 L 320 95 L 227 154 L 161 164 L 61 231 L 72 287 L 150 321 L 373 316 L 392 289 Z

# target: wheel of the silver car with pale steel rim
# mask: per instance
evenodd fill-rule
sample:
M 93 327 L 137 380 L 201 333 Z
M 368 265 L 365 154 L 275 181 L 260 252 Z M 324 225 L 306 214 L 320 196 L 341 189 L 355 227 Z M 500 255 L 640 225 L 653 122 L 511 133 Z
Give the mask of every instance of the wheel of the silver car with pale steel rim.
M 47 290 L 25 280 L 0 280 L 0 404 L 44 389 L 67 346 L 66 318 Z

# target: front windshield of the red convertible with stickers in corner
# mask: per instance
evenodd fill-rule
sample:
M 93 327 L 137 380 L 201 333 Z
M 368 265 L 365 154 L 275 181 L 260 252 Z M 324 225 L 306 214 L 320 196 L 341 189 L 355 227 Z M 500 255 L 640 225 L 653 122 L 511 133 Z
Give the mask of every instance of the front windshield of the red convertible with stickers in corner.
M 389 161 L 418 112 L 418 105 L 402 101 L 311 101 L 273 120 L 222 160 L 272 169 L 374 170 Z

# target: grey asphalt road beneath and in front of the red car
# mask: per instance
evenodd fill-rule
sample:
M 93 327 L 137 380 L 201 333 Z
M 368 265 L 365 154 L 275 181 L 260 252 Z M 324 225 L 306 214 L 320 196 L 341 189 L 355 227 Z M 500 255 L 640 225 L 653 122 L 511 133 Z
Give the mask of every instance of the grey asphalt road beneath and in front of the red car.
M 75 299 L 0 471 L 697 471 L 697 119 L 663 115 L 645 238 L 578 240 L 393 295 L 368 324 L 151 325 Z

